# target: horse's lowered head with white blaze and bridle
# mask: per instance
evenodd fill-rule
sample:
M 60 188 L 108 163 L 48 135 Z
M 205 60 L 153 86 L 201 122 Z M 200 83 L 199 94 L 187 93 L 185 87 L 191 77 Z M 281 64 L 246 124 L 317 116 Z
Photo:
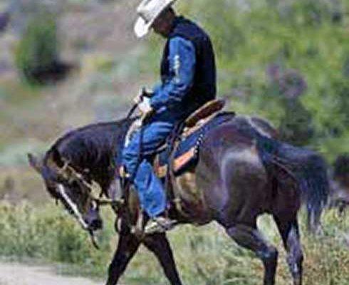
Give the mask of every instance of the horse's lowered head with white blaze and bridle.
M 99 205 L 88 180 L 53 149 L 44 160 L 28 155 L 31 165 L 42 177 L 50 195 L 62 202 L 70 214 L 78 220 L 83 229 L 92 233 L 103 227 Z

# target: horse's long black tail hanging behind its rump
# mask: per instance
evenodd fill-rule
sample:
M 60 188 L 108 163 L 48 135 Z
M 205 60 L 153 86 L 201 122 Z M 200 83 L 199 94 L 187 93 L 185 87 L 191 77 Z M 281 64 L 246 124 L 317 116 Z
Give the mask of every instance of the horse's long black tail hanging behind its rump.
M 261 139 L 262 159 L 280 165 L 294 177 L 308 212 L 308 229 L 316 230 L 328 202 L 329 182 L 323 157 L 312 150 L 275 140 Z M 269 145 L 269 147 L 265 147 Z M 271 147 L 270 147 L 271 145 Z M 270 164 L 269 164 L 270 165 Z

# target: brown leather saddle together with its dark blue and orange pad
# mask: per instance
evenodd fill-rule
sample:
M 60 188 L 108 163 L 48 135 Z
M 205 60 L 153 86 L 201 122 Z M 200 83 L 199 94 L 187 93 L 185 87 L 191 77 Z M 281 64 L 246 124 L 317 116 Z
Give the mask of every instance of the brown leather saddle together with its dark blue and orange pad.
M 204 135 L 234 117 L 234 113 L 219 112 L 223 107 L 222 100 L 205 104 L 184 122 L 184 129 L 177 135 L 173 146 L 171 142 L 167 142 L 160 147 L 153 163 L 158 177 L 164 178 L 167 175 L 169 164 L 172 165 L 175 176 L 195 167 Z

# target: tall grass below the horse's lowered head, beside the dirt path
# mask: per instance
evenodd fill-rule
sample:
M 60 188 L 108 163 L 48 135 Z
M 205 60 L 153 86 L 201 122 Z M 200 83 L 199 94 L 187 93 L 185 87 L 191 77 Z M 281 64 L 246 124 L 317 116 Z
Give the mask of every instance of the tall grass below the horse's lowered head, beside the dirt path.
M 94 275 L 104 275 L 110 261 L 114 216 L 103 213 L 106 227 L 98 236 L 101 250 L 96 250 L 75 219 L 62 207 L 48 203 L 34 207 L 0 204 L 0 255 L 31 257 L 76 264 Z

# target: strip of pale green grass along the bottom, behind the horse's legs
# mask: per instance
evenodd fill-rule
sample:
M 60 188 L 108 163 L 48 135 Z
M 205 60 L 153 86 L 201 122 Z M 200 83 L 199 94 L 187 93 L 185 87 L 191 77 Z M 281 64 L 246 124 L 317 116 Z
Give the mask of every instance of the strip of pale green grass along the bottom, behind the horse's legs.
M 41 208 L 27 203 L 17 207 L 1 203 L 0 254 L 75 264 L 85 274 L 104 277 L 117 236 L 113 232 L 113 214 L 105 211 L 103 215 L 107 223 L 99 235 L 101 250 L 98 251 L 90 244 L 87 234 L 61 207 L 51 203 Z M 290 284 L 285 252 L 274 222 L 269 217 L 263 217 L 259 225 L 280 251 L 278 284 Z M 348 284 L 348 227 L 349 217 L 339 218 L 334 211 L 325 214 L 324 232 L 320 237 L 309 235 L 302 227 L 306 255 L 305 284 Z M 184 284 L 261 284 L 261 262 L 251 252 L 232 242 L 222 228 L 214 224 L 200 228 L 183 226 L 170 232 L 169 236 Z M 155 258 L 143 248 L 128 267 L 124 282 L 135 285 L 166 284 Z

